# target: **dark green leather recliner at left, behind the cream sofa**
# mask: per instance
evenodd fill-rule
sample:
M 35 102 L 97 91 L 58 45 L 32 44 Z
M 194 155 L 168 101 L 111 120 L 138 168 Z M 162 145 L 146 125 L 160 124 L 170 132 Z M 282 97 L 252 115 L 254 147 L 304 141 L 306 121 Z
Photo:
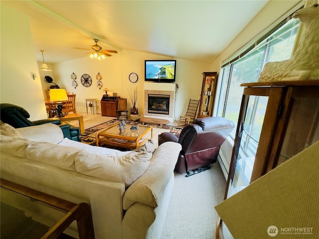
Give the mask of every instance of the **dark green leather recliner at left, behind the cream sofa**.
M 73 127 L 66 122 L 61 122 L 59 118 L 41 119 L 36 121 L 30 121 L 28 118 L 30 118 L 29 113 L 22 107 L 6 103 L 0 104 L 0 119 L 3 123 L 10 124 L 14 128 L 54 123 L 61 127 L 64 137 L 81 142 L 80 129 Z

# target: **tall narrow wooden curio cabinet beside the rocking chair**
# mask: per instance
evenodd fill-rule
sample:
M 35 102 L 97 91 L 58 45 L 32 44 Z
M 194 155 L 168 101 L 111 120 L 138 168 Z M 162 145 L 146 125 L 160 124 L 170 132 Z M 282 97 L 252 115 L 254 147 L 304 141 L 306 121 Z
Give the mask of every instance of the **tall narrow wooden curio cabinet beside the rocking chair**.
M 203 72 L 203 84 L 199 103 L 198 118 L 212 115 L 215 91 L 217 85 L 217 72 Z

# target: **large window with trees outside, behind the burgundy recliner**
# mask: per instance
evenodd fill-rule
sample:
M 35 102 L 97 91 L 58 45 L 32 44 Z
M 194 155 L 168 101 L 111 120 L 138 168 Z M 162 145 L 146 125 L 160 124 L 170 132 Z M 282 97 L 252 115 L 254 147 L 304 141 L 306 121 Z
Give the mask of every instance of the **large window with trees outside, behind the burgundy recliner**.
M 225 64 L 220 70 L 222 85 L 218 101 L 217 116 L 231 119 L 237 124 L 240 103 L 242 99 L 242 83 L 257 82 L 263 66 L 269 61 L 283 61 L 291 57 L 294 43 L 299 28 L 299 19 L 291 19 L 279 29 L 270 34 L 252 50 L 245 53 L 238 59 Z M 254 104 L 263 104 L 266 109 L 267 101 L 255 99 Z M 253 111 L 256 108 L 251 106 L 251 120 L 258 120 L 260 112 Z M 235 137 L 236 128 L 231 133 Z M 253 149 L 253 145 L 246 146 L 248 151 Z M 253 153 L 253 152 L 251 152 Z

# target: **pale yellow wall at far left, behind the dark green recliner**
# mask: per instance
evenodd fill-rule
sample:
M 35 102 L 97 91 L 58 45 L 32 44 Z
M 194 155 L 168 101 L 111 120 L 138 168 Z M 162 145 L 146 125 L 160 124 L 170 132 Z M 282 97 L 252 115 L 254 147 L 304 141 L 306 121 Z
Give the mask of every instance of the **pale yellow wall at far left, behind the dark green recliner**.
M 26 15 L 1 4 L 0 103 L 24 108 L 30 120 L 47 117 L 35 49 Z M 37 75 L 33 80 L 32 75 Z

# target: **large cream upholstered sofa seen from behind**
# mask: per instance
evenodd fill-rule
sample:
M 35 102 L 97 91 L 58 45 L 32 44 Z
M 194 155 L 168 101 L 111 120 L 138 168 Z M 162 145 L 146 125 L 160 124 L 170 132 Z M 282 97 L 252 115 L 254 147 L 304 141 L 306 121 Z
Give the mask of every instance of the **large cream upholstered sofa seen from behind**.
M 180 144 L 121 152 L 63 139 L 54 124 L 0 127 L 1 178 L 88 203 L 96 239 L 160 238 Z

